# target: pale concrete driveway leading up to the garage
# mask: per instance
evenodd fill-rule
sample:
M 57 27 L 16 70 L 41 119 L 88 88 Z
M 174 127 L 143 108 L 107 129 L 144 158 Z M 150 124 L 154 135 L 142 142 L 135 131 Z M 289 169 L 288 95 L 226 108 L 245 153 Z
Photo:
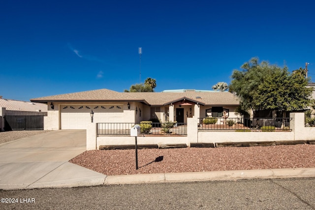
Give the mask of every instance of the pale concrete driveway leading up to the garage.
M 1 144 L 0 189 L 104 182 L 105 175 L 68 162 L 84 151 L 86 130 L 57 130 Z

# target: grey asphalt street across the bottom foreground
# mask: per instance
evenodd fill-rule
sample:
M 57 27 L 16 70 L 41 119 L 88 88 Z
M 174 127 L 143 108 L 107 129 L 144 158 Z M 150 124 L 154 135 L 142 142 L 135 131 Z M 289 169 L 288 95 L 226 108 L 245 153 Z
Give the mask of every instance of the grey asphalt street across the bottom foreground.
M 314 192 L 315 178 L 0 190 L 0 209 L 314 210 Z

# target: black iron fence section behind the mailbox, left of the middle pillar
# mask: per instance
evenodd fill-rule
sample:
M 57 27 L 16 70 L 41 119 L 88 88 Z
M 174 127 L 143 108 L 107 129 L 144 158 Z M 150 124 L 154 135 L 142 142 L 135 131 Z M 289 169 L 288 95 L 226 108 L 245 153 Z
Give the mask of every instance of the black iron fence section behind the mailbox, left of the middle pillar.
M 97 123 L 97 135 L 130 135 L 130 129 L 140 125 L 142 135 L 187 135 L 187 123 L 132 123 L 102 122 Z

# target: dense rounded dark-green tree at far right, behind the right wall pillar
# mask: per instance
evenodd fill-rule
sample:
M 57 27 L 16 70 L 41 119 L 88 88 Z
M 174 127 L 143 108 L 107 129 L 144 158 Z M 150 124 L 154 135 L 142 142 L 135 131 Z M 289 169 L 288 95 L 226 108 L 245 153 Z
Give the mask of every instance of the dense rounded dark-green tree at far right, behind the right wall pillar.
M 313 89 L 306 87 L 308 81 L 301 68 L 293 73 L 288 72 L 286 67 L 277 69 L 272 75 L 266 75 L 253 95 L 253 101 L 262 109 L 281 111 L 285 117 L 288 111 L 311 105 Z

